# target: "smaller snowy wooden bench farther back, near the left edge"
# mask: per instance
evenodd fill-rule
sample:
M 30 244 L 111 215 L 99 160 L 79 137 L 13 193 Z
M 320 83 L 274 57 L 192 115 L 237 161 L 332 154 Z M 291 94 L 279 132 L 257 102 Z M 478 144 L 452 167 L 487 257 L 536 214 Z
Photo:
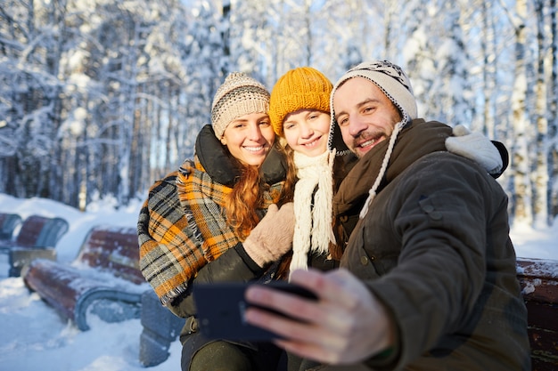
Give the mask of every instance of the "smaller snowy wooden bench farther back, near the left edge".
M 17 238 L 0 243 L 0 249 L 9 254 L 8 276 L 19 277 L 21 267 L 34 259 L 56 260 L 56 243 L 68 227 L 68 222 L 62 218 L 31 215 L 25 219 Z

